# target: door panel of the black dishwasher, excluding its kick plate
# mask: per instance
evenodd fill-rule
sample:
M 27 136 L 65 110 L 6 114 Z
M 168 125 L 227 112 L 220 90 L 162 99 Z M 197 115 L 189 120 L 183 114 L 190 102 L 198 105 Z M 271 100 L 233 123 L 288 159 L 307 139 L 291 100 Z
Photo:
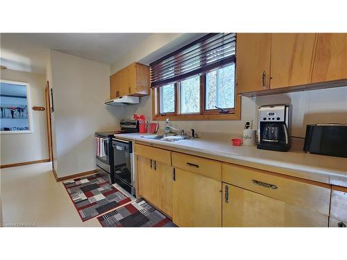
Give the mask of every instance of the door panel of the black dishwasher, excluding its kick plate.
M 112 147 L 115 177 L 133 186 L 133 143 L 112 139 Z

